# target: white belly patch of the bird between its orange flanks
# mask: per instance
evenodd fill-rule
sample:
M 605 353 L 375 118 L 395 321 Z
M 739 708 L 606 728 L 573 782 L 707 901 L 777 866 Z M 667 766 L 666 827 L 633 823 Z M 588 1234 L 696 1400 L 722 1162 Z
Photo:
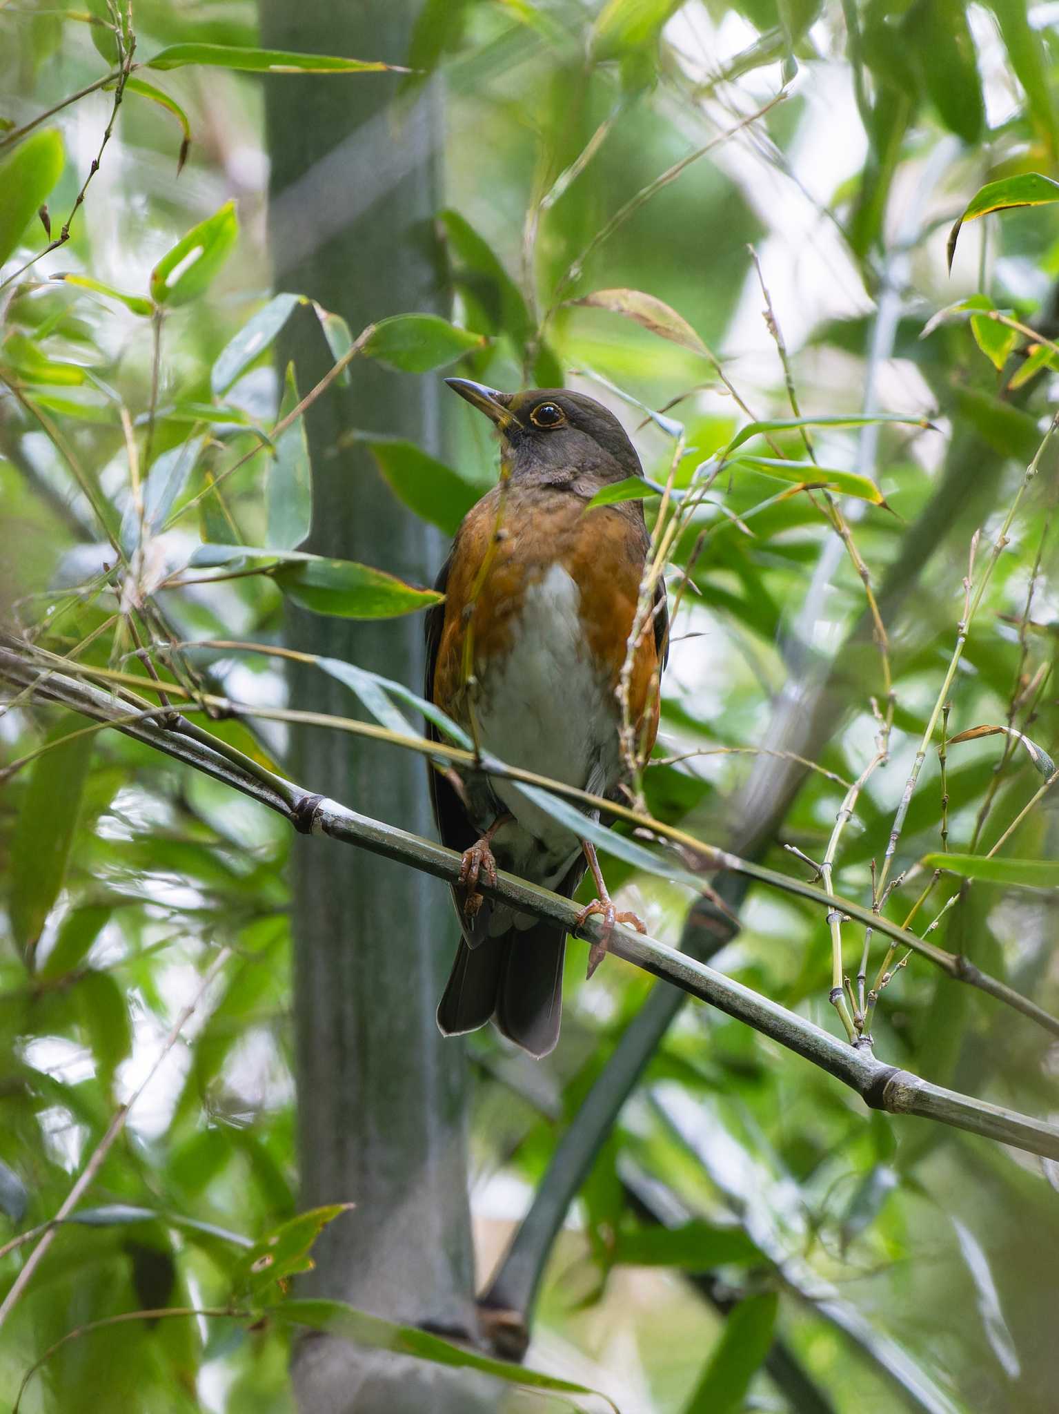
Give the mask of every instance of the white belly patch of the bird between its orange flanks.
M 480 682 L 476 717 L 484 749 L 501 761 L 602 795 L 618 775 L 617 703 L 592 665 L 579 604 L 576 583 L 554 564 L 525 595 L 511 650 Z M 517 855 L 544 846 L 555 867 L 569 867 L 578 853 L 570 831 L 514 782 L 491 785 L 517 822 L 497 833 L 497 855 L 517 870 Z

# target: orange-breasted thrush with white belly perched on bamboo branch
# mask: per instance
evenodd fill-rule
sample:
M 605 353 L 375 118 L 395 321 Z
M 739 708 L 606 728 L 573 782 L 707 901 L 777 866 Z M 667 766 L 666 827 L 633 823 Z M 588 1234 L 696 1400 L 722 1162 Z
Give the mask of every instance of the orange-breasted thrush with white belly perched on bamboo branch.
M 617 799 L 628 775 L 623 724 L 641 759 L 658 731 L 666 595 L 659 575 L 623 679 L 651 536 L 642 499 L 589 502 L 644 475 L 637 451 L 617 417 L 583 393 L 445 382 L 498 431 L 500 481 L 465 516 L 438 575 L 443 600 L 426 618 L 424 696 L 479 752 Z M 428 732 L 439 740 L 432 723 Z M 462 855 L 452 885 L 462 936 L 438 1027 L 462 1035 L 493 1019 L 517 1046 L 545 1056 L 559 1038 L 566 928 L 484 898 L 479 884 L 494 885 L 504 868 L 572 898 L 587 867 L 596 896 L 575 928 L 603 918 L 589 976 L 617 922 L 640 932 L 644 923 L 614 908 L 592 843 L 515 782 L 436 766 L 429 782 L 439 837 Z

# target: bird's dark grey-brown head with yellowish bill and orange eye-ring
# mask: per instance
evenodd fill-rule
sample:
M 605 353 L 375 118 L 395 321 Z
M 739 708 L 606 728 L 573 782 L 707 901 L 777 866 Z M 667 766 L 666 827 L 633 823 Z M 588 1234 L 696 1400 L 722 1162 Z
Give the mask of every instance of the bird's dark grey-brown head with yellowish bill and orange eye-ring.
M 446 378 L 449 387 L 477 407 L 500 433 L 500 460 L 513 477 L 599 481 L 642 477 L 635 447 L 602 403 L 565 387 L 501 393 L 469 378 Z

